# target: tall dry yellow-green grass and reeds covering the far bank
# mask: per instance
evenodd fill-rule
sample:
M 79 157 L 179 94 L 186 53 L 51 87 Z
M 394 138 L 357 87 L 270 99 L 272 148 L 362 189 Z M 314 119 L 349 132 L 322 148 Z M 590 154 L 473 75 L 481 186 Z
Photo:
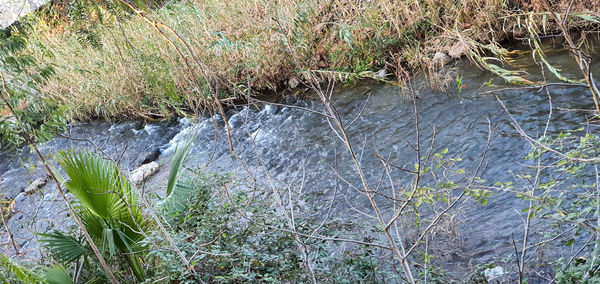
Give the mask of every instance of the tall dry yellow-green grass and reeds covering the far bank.
M 176 38 L 118 2 L 72 1 L 52 3 L 24 20 L 23 30 L 27 52 L 56 71 L 40 86 L 41 96 L 64 106 L 68 118 L 158 118 L 211 106 L 202 72 L 219 80 L 221 98 L 240 98 L 249 89 L 295 87 L 305 70 L 348 79 L 386 69 L 402 80 L 416 70 L 432 72 L 437 51 L 472 58 L 491 51 L 501 58 L 500 42 L 556 33 L 545 11 L 564 12 L 569 2 L 194 0 L 140 6 Z M 598 3 L 576 2 L 571 27 L 600 20 Z M 195 59 L 200 65 L 186 62 Z

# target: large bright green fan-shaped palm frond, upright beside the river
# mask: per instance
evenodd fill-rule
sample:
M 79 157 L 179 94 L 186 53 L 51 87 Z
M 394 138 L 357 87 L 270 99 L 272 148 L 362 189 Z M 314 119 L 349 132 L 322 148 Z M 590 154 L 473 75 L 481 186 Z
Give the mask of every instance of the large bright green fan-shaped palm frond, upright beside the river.
M 111 256 L 122 252 L 135 257 L 148 225 L 129 180 L 112 161 L 90 151 L 65 151 L 56 159 L 69 176 L 65 187 L 79 201 L 78 213 L 94 242 Z M 141 265 L 128 263 L 142 280 Z

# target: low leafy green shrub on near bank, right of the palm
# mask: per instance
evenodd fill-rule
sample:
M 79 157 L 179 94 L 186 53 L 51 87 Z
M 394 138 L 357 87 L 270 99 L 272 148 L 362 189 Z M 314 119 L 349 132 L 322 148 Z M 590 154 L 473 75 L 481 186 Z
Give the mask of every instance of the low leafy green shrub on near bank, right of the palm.
M 146 283 L 158 279 L 178 283 L 310 281 L 296 242 L 285 231 L 284 217 L 267 201 L 243 190 L 222 192 L 223 184 L 233 183 L 227 174 L 194 172 L 185 182 L 193 185 L 191 202 L 178 216 L 179 222 L 172 223 L 172 238 L 195 272 L 185 270 L 162 234 L 151 232 L 145 240 L 152 267 Z M 298 218 L 297 222 L 310 220 Z M 333 221 L 325 226 L 336 227 Z M 375 275 L 382 273 L 372 248 L 353 246 L 351 252 L 332 256 L 334 244 L 313 241 L 310 245 L 315 248 L 311 256 L 317 279 L 374 282 Z

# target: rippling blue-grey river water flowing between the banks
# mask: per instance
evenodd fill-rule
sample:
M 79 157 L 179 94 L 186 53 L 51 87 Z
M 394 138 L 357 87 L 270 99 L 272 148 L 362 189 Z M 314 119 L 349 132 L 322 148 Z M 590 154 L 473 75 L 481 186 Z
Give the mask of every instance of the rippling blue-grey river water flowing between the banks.
M 551 62 L 561 66 L 564 74 L 580 77 L 572 58 L 565 51 L 551 54 Z M 542 80 L 531 57 L 524 55 L 516 64 L 532 71 L 532 78 Z M 514 181 L 514 175 L 526 171 L 522 164 L 530 163 L 524 156 L 529 144 L 516 134 L 509 118 L 493 95 L 481 95 L 483 91 L 503 87 L 500 78 L 477 69 L 466 62 L 459 62 L 458 74 L 462 76 L 463 88 L 459 94 L 455 84 L 449 91 L 432 91 L 423 78 L 413 81 L 418 90 L 416 108 L 419 113 L 419 135 L 422 147 L 430 145 L 435 129 L 434 152 L 448 148 L 447 157 L 460 157 L 457 166 L 472 172 L 480 162 L 486 148 L 488 127 L 491 141 L 487 151 L 485 171 L 481 177 L 492 184 L 496 181 Z M 597 69 L 599 65 L 594 65 Z M 593 70 L 595 70 L 593 68 Z M 549 79 L 552 79 L 548 75 Z M 488 83 L 491 80 L 491 86 Z M 507 90 L 498 93 L 521 127 L 532 137 L 539 137 L 548 118 L 549 101 L 545 91 Z M 549 131 L 558 133 L 585 125 L 585 111 L 561 111 L 565 109 L 590 109 L 591 98 L 585 88 L 551 88 L 552 105 L 555 108 Z M 415 162 L 417 131 L 413 103 L 400 88 L 379 83 L 361 82 L 351 88 L 340 88 L 333 96 L 333 104 L 348 126 L 348 134 L 359 155 L 365 176 L 371 186 L 379 183 L 382 162 L 375 154 L 390 157 L 397 166 L 412 169 Z M 272 178 L 276 186 L 293 182 L 302 185 L 302 191 L 314 198 L 306 201 L 316 208 L 324 208 L 336 194 L 332 205 L 337 216 L 368 218 L 357 213 L 371 212 L 368 199 L 356 192 L 348 183 L 359 187 L 356 169 L 346 149 L 331 130 L 327 120 L 307 108 L 323 111 L 321 103 L 311 97 L 287 97 L 279 103 L 289 105 L 243 106 L 227 112 L 232 128 L 232 141 L 240 158 L 258 180 Z M 197 124 L 187 119 L 164 122 L 94 122 L 71 126 L 73 137 L 89 138 L 114 158 L 121 159 L 127 168 L 134 166 L 139 153 L 160 148 L 159 163 L 168 164 L 178 142 L 195 135 L 190 166 L 203 166 L 210 161 L 214 170 L 225 170 L 245 176 L 246 169 L 231 155 L 224 124 L 216 119 L 201 117 Z M 356 119 L 355 119 L 356 118 Z M 489 124 L 488 124 L 489 119 Z M 353 123 L 350 123 L 353 121 Z M 215 127 L 218 129 L 215 136 Z M 597 127 L 589 126 L 591 132 Z M 217 138 L 215 140 L 215 137 Z M 408 143 L 410 142 L 410 143 Z M 44 153 L 61 149 L 91 146 L 84 141 L 57 138 L 42 147 Z M 25 153 L 24 156 L 31 156 Z M 14 198 L 42 171 L 32 167 L 33 156 L 22 162 L 0 154 L 0 192 Z M 264 163 L 264 167 L 263 167 Z M 332 168 L 337 168 L 340 178 Z M 154 183 L 164 184 L 167 167 L 154 178 Z M 394 186 L 400 187 L 412 181 L 412 175 L 401 171 L 392 174 Z M 161 183 L 162 182 L 162 183 Z M 423 181 L 429 182 L 428 180 Z M 391 185 L 384 183 L 382 191 Z M 39 201 L 43 202 L 39 202 Z M 9 220 L 17 240 L 24 249 L 37 256 L 34 231 L 44 231 L 53 226 L 68 223 L 60 199 L 55 190 L 46 187 L 45 192 L 17 198 L 18 212 Z M 494 192 L 487 205 L 467 201 L 462 205 L 460 216 L 460 240 L 452 243 L 452 250 L 445 255 L 447 265 L 465 271 L 470 265 L 494 261 L 513 253 L 512 236 L 520 238 L 523 233 L 521 209 L 527 204 L 514 193 Z M 384 208 L 385 209 L 385 208 Z M 32 217 L 34 216 L 34 217 Z M 362 218 L 362 219 L 361 219 Z M 533 232 L 533 239 L 541 238 L 541 232 Z

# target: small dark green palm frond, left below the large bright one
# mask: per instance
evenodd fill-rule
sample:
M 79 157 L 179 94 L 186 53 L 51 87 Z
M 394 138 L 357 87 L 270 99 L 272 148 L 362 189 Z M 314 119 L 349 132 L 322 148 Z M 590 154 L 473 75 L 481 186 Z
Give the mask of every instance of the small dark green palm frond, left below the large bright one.
M 84 254 L 89 254 L 90 249 L 84 246 L 73 236 L 54 231 L 48 234 L 38 234 L 43 238 L 40 240 L 42 247 L 50 251 L 50 255 L 62 264 L 69 264 Z

